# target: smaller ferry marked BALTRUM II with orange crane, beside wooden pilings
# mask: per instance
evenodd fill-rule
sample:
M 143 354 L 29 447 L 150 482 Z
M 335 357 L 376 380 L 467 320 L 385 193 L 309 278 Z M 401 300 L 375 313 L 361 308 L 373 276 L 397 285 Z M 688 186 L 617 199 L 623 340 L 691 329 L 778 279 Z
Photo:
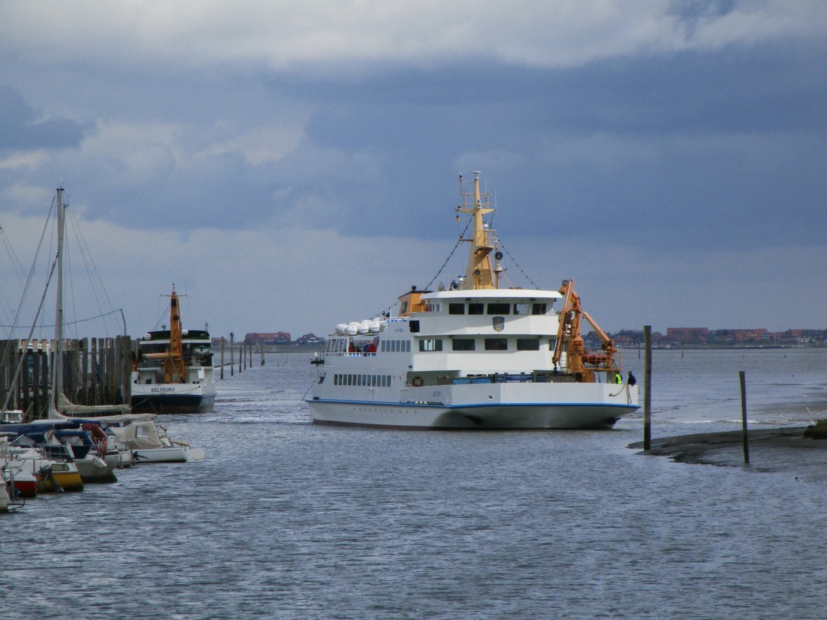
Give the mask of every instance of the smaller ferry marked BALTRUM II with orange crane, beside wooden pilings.
M 136 412 L 203 413 L 213 408 L 213 341 L 206 330 L 182 329 L 174 285 L 170 329 L 150 331 L 138 341 L 131 389 Z

